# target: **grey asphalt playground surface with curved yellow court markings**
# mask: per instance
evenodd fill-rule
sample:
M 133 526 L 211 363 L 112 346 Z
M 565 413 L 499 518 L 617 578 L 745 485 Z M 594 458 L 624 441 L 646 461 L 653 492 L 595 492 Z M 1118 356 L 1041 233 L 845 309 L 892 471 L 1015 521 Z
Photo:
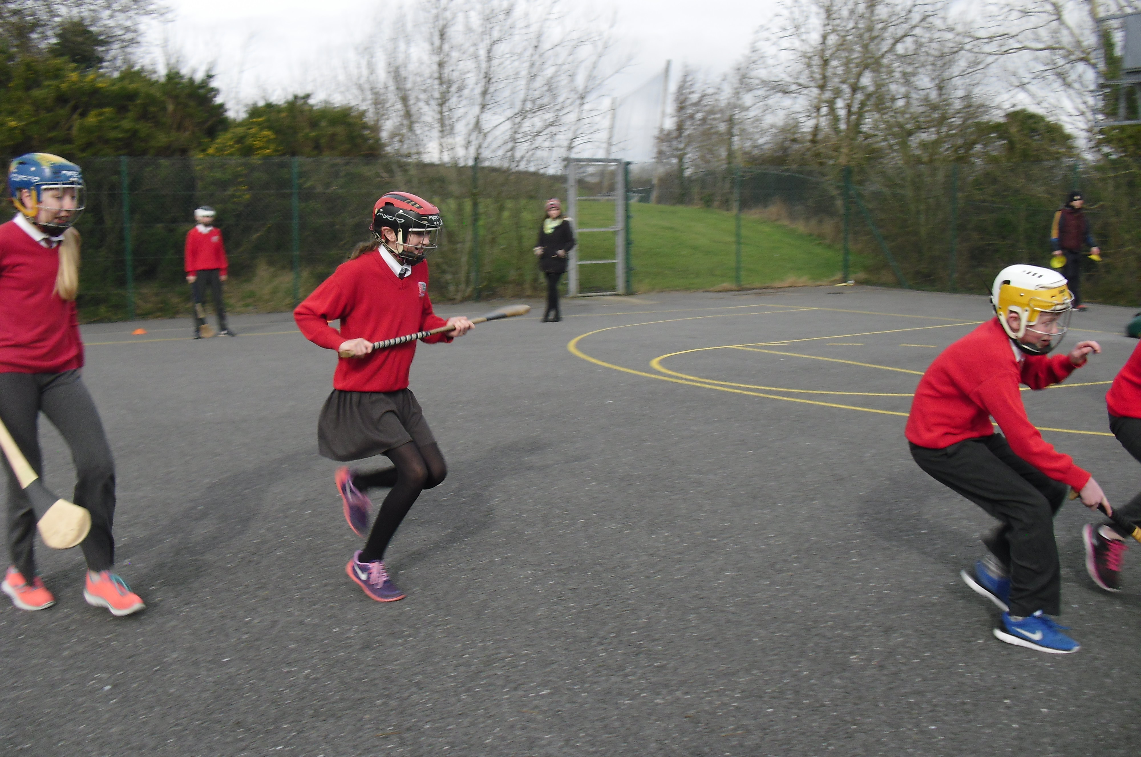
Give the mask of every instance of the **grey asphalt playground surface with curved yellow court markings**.
M 1114 503 L 1141 466 L 1099 382 L 1132 315 L 1075 314 L 1063 349 L 1104 353 L 1023 394 Z M 118 570 L 147 609 L 88 607 L 79 551 L 39 548 L 56 607 L 0 607 L 2 754 L 1138 754 L 1141 548 L 1125 592 L 1100 592 L 1094 515 L 1068 504 L 1061 621 L 1083 649 L 1003 644 L 958 577 L 992 521 L 907 451 L 919 374 L 985 298 L 652 294 L 565 316 L 419 345 L 450 473 L 389 548 L 407 599 L 388 604 L 345 575 L 361 540 L 316 449 L 335 358 L 289 314 L 234 318 L 237 339 L 84 327 Z

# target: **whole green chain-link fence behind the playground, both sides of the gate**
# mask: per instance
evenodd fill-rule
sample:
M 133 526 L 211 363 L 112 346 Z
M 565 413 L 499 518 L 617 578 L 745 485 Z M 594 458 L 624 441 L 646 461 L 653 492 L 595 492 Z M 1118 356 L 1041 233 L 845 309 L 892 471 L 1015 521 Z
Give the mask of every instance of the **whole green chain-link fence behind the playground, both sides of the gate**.
M 372 204 L 395 188 L 443 211 L 434 298 L 539 295 L 531 249 L 543 202 L 565 190 L 561 176 L 374 160 L 107 157 L 82 165 L 84 320 L 188 314 L 183 245 L 200 205 L 217 209 L 225 234 L 228 307 L 288 310 L 367 237 Z M 980 293 L 1003 266 L 1046 264 L 1053 212 L 1079 188 L 1104 251 L 1104 262 L 1089 263 L 1086 299 L 1141 302 L 1141 170 L 1132 164 L 751 166 L 685 178 L 634 165 L 631 173 L 634 202 L 737 211 L 850 250 L 837 280 Z M 638 290 L 637 268 L 652 264 L 654 251 L 633 243 Z M 691 244 L 701 247 L 701 229 Z M 739 284 L 751 250 L 738 235 L 734 250 L 703 254 L 734 255 Z

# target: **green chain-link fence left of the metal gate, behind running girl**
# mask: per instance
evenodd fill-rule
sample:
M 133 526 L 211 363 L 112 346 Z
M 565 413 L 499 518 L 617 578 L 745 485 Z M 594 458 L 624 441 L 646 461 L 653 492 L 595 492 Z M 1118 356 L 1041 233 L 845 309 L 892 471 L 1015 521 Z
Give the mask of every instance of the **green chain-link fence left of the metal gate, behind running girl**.
M 563 189 L 561 177 L 540 173 L 374 160 L 107 157 L 82 168 L 84 320 L 188 314 L 183 249 L 200 205 L 218 211 L 228 307 L 288 310 L 369 237 L 372 205 L 389 189 L 440 206 L 432 296 L 537 294 L 531 249 L 543 201 Z

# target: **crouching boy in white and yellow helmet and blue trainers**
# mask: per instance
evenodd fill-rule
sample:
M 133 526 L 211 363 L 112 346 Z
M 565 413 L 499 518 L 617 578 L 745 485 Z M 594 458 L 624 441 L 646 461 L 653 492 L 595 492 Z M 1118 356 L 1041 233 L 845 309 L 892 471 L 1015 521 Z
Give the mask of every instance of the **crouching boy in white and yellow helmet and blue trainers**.
M 1061 343 L 1074 298 L 1049 268 L 1010 266 L 992 288 L 995 317 L 934 359 L 923 374 L 906 436 L 928 474 L 1000 521 L 989 554 L 963 580 L 1003 610 L 995 636 L 1055 654 L 1079 646 L 1047 616 L 1060 610 L 1054 514 L 1073 488 L 1091 508 L 1109 507 L 1101 487 L 1057 451 L 1026 416 L 1019 384 L 1045 389 L 1085 365 L 1097 342 L 1069 355 Z M 994 418 L 1002 433 L 995 433 Z

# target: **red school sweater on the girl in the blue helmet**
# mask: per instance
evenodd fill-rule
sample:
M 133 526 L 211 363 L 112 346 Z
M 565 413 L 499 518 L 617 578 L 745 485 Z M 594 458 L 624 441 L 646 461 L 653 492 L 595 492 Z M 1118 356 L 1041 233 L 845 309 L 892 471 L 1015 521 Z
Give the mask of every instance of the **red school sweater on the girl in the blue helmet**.
M 56 294 L 58 249 L 8 221 L 0 225 L 0 373 L 83 367 L 75 302 Z

